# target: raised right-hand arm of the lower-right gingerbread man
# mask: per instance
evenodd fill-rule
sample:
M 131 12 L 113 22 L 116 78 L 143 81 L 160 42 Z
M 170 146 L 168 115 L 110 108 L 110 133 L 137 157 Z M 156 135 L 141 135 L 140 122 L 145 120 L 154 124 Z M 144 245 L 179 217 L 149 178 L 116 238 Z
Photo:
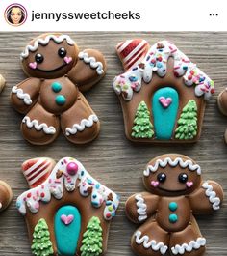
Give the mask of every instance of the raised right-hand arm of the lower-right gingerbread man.
M 213 213 L 219 210 L 223 201 L 223 190 L 214 181 L 203 182 L 189 195 L 189 202 L 194 214 Z

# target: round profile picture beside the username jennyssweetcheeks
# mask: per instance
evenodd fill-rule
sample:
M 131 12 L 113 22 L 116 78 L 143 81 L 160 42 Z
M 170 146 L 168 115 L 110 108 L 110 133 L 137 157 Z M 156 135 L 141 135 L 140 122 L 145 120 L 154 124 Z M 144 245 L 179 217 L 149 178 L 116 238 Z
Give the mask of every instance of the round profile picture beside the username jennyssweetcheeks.
M 8 24 L 18 27 L 27 19 L 27 10 L 24 6 L 14 3 L 5 10 L 5 19 Z

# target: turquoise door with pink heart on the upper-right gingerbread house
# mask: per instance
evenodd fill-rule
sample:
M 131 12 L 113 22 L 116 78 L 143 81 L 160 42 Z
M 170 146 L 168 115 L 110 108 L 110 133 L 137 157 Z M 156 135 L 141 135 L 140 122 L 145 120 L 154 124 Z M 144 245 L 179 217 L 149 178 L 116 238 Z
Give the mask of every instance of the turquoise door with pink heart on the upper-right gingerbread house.
M 171 139 L 179 107 L 178 92 L 164 87 L 155 92 L 152 100 L 152 114 L 156 138 Z

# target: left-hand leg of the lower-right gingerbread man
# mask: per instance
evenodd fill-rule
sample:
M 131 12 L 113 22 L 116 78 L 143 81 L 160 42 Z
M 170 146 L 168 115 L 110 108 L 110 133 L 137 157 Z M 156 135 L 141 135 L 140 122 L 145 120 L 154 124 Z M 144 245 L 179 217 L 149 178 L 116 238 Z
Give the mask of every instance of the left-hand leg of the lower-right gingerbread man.
M 139 256 L 166 255 L 168 242 L 168 233 L 155 220 L 141 225 L 131 240 L 132 249 Z

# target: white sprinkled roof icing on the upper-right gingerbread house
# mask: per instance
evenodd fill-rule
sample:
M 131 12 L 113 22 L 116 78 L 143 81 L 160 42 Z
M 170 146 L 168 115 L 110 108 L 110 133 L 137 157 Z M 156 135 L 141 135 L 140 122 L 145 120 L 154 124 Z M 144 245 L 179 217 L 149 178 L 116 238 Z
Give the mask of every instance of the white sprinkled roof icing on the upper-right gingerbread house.
M 204 100 L 210 100 L 214 94 L 214 82 L 203 71 L 200 71 L 182 51 L 168 41 L 155 43 L 137 67 L 116 76 L 114 79 L 115 93 L 121 94 L 124 100 L 131 100 L 134 91 L 140 90 L 142 79 L 145 83 L 149 83 L 153 72 L 160 77 L 165 76 L 169 57 L 174 59 L 175 76 L 183 76 L 187 86 L 195 86 L 194 93 L 197 97 L 204 95 Z M 133 76 L 136 79 L 131 79 Z

